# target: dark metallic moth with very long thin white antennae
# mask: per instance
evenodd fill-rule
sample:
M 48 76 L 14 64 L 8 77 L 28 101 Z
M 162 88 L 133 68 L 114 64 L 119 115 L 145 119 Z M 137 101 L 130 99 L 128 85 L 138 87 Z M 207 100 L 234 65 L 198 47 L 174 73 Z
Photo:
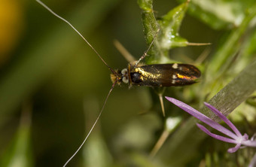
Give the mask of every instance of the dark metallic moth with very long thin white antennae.
M 81 38 L 86 41 L 86 43 L 93 49 L 93 51 L 96 53 L 97 56 L 99 56 L 99 59 L 102 60 L 102 62 L 108 67 L 108 69 L 111 71 L 111 81 L 112 86 L 111 89 L 108 92 L 108 96 L 105 98 L 105 102 L 102 105 L 101 111 L 99 112 L 98 117 L 96 118 L 95 122 L 93 123 L 93 126 L 91 127 L 90 131 L 88 132 L 86 138 L 78 147 L 78 150 L 75 151 L 75 153 L 69 158 L 69 160 L 65 163 L 64 166 L 66 166 L 69 161 L 78 153 L 78 151 L 81 149 L 81 147 L 84 145 L 85 141 L 87 141 L 87 138 L 89 137 L 90 133 L 93 131 L 94 126 L 96 126 L 96 123 L 99 120 L 99 117 L 102 114 L 103 109 L 105 108 L 105 104 L 108 100 L 108 97 L 111 94 L 111 91 L 114 89 L 114 86 L 120 85 L 121 83 L 127 83 L 129 84 L 129 87 L 132 87 L 133 85 L 136 86 L 146 86 L 146 87 L 172 87 L 172 86 L 184 86 L 189 85 L 197 82 L 197 79 L 200 77 L 200 70 L 195 67 L 194 65 L 188 65 L 188 64 L 153 64 L 153 65 L 141 65 L 142 59 L 147 56 L 148 51 L 150 50 L 152 44 L 154 44 L 154 40 L 157 37 L 157 33 L 154 36 L 153 40 L 151 41 L 150 46 L 148 47 L 148 50 L 145 51 L 145 53 L 142 55 L 142 57 L 136 61 L 136 62 L 130 62 L 128 64 L 127 68 L 123 68 L 123 70 L 114 70 L 111 68 L 104 59 L 102 59 L 102 56 L 99 55 L 99 53 L 94 49 L 94 47 L 87 41 L 87 39 L 84 38 L 83 35 L 81 35 L 80 32 L 78 32 L 77 29 L 75 29 L 74 26 L 72 26 L 69 21 L 63 19 L 62 17 L 59 17 L 58 14 L 53 12 L 50 8 L 47 7 L 47 5 L 44 5 L 43 2 L 40 0 L 36 0 L 40 5 L 42 5 L 44 8 L 47 9 L 47 11 L 50 11 L 51 14 L 58 17 L 60 20 L 66 22 L 69 24 L 69 26 L 72 27 L 72 29 L 75 30 L 75 32 L 78 33 L 78 35 L 81 36 Z M 159 30 L 157 31 L 159 32 Z M 163 109 L 163 99 L 160 102 Z

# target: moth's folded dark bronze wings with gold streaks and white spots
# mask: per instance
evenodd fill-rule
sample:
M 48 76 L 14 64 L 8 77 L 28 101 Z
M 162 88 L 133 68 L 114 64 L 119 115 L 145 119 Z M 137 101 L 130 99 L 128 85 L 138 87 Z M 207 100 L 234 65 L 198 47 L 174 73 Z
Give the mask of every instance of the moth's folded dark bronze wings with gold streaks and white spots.
M 200 70 L 188 64 L 156 64 L 132 68 L 130 79 L 133 85 L 148 87 L 185 86 L 197 82 Z

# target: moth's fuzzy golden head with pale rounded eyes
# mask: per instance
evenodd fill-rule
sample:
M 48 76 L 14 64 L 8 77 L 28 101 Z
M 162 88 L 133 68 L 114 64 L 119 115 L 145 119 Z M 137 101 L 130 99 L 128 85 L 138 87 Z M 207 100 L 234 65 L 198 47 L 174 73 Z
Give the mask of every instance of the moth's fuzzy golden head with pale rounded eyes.
M 121 83 L 129 83 L 129 76 L 127 68 L 123 68 L 122 71 L 116 70 L 115 73 L 110 74 L 110 78 L 112 83 L 117 83 L 120 85 Z

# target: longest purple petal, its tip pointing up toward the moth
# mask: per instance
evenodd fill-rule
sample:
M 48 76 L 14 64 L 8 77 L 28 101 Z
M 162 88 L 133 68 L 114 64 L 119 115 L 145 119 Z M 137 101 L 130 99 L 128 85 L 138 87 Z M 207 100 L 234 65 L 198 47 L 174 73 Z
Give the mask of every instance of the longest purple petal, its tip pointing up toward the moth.
M 206 123 L 212 128 L 218 130 L 219 132 L 222 132 L 223 134 L 230 136 L 230 138 L 233 138 L 233 139 L 238 138 L 236 134 L 231 132 L 229 129 L 225 128 L 224 126 L 221 126 L 220 124 L 216 123 L 209 117 L 206 117 L 206 115 L 200 113 L 200 111 L 197 111 L 196 109 L 191 108 L 189 105 L 185 104 L 184 102 L 178 101 L 177 99 L 173 99 L 167 96 L 166 96 L 166 99 L 169 100 L 169 102 L 172 102 L 174 105 L 177 105 L 182 110 L 186 111 L 188 114 L 196 117 L 198 120 L 201 120 L 203 123 Z

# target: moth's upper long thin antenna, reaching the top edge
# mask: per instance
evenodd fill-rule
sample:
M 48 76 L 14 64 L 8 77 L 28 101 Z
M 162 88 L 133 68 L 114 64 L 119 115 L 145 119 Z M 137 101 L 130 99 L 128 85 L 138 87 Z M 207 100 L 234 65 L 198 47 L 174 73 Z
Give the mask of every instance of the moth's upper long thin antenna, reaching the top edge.
M 71 26 L 72 27 L 72 29 L 74 29 L 75 30 L 75 32 L 77 32 L 78 33 L 78 35 L 80 35 L 81 36 L 81 38 L 83 38 L 84 39 L 84 41 L 93 49 L 93 51 L 99 56 L 99 59 L 101 59 L 102 60 L 102 62 L 104 62 L 104 64 L 108 67 L 108 69 L 113 73 L 113 74 L 117 74 L 117 72 L 116 71 L 114 71 L 114 69 L 113 68 L 111 68 L 108 64 L 107 64 L 107 62 L 105 62 L 105 60 L 104 59 L 102 59 L 102 56 L 100 56 L 99 55 L 99 53 L 94 49 L 94 47 L 84 38 L 84 36 L 83 35 L 81 35 L 81 33 L 80 32 L 78 32 L 78 30 L 77 29 L 75 29 L 75 27 L 74 26 L 72 26 L 72 24 L 71 23 L 69 23 L 69 21 L 68 20 L 66 20 L 66 19 L 64 19 L 64 18 L 62 18 L 62 17 L 60 17 L 58 14 L 56 14 L 54 11 L 52 11 L 49 7 L 47 7 L 47 5 L 45 5 L 43 2 L 41 2 L 40 0 L 35 0 L 36 2 L 38 2 L 40 5 L 42 5 L 44 8 L 46 8 L 47 9 L 47 11 L 50 11 L 50 13 L 51 14 L 53 14 L 55 17 L 58 17 L 60 20 L 62 20 L 62 21 L 64 21 L 64 22 L 66 22 L 67 24 L 69 24 L 69 26 Z

